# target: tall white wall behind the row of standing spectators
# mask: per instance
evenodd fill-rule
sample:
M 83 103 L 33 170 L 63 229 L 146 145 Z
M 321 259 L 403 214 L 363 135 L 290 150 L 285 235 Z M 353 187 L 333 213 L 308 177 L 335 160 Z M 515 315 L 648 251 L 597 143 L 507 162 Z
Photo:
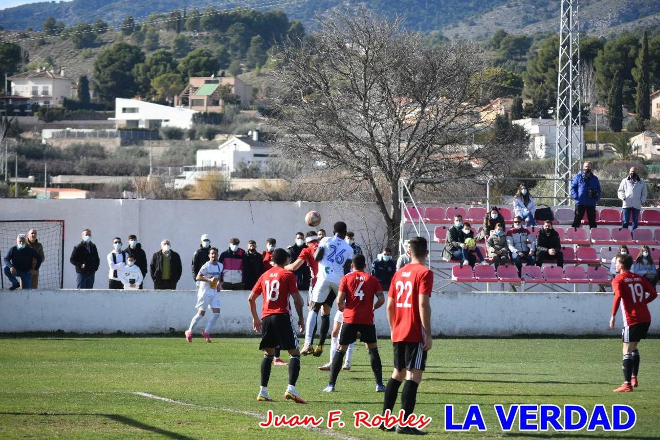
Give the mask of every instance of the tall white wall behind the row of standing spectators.
M 244 249 L 249 239 L 255 239 L 257 250 L 263 251 L 269 237 L 277 239 L 279 247 L 286 248 L 294 243 L 296 232 L 312 229 L 304 222 L 305 214 L 311 210 L 321 213 L 323 221 L 319 228 L 324 228 L 328 234 L 332 233 L 335 222 L 343 220 L 348 230 L 356 232 L 358 243 L 367 241 L 368 236 L 383 236 L 381 215 L 376 205 L 370 203 L 0 199 L 0 220 L 65 220 L 65 288 L 76 286 L 75 268 L 69 263 L 69 257 L 85 228 L 92 230 L 92 241 L 101 259 L 101 267 L 96 272 L 97 288 L 108 286 L 106 256 L 112 250 L 113 237 L 121 237 L 127 245 L 129 234 L 135 234 L 149 261 L 160 249 L 160 241 L 170 239 L 172 249 L 181 255 L 183 264 L 178 288 L 192 289 L 195 283 L 190 264 L 201 234 L 210 234 L 211 245 L 220 251 L 228 247 L 231 237 L 238 237 Z M 0 249 L 0 253 L 4 252 L 6 249 Z M 147 278 L 145 288 L 152 288 L 152 280 Z

